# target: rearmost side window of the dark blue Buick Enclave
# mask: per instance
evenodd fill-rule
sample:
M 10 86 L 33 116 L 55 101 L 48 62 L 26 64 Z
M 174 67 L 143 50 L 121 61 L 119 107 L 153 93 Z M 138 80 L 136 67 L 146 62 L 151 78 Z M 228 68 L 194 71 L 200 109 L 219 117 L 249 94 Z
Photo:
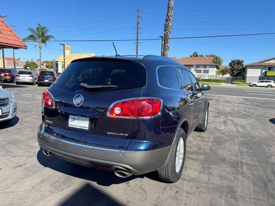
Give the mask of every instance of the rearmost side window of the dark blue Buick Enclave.
M 165 88 L 180 90 L 180 80 L 178 79 L 175 66 L 159 67 L 158 82 Z

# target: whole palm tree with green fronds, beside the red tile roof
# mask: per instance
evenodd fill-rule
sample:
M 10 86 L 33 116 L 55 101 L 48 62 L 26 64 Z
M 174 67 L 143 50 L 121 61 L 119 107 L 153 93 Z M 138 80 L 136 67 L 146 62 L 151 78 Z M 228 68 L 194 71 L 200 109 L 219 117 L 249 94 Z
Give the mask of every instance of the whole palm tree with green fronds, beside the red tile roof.
M 38 42 L 39 47 L 39 64 L 40 64 L 40 71 L 41 71 L 41 48 L 42 44 L 46 46 L 46 42 L 50 39 L 54 39 L 53 35 L 48 35 L 49 29 L 46 26 L 41 26 L 40 23 L 37 23 L 36 28 L 28 28 L 31 34 L 23 39 L 23 41 L 34 41 Z M 34 47 L 37 47 L 35 45 Z

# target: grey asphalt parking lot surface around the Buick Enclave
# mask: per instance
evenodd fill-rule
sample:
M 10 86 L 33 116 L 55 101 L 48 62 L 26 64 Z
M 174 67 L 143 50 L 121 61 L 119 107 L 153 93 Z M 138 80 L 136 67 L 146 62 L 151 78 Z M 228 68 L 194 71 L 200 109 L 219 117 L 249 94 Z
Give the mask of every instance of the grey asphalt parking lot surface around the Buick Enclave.
M 176 183 L 155 172 L 128 179 L 39 150 L 47 87 L 2 84 L 18 114 L 0 124 L 0 205 L 274 205 L 275 102 L 211 96 L 206 132 L 192 132 Z

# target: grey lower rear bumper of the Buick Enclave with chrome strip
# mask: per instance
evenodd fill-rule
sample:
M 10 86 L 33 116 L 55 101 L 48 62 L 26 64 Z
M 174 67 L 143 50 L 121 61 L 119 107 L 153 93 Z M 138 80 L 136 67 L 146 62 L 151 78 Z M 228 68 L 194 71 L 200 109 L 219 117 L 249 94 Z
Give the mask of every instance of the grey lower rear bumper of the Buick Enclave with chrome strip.
M 41 148 L 67 161 L 87 167 L 124 169 L 134 174 L 143 174 L 163 167 L 171 149 L 171 146 L 150 151 L 99 148 L 48 134 L 43 125 L 38 130 L 37 140 Z

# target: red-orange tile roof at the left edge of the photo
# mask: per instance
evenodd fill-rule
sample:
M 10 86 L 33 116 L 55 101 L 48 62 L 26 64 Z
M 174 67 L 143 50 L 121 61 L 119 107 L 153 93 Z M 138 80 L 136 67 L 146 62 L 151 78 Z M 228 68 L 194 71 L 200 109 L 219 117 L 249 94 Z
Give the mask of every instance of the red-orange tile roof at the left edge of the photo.
M 0 47 L 23 48 L 27 45 L 15 34 L 14 31 L 0 18 Z

